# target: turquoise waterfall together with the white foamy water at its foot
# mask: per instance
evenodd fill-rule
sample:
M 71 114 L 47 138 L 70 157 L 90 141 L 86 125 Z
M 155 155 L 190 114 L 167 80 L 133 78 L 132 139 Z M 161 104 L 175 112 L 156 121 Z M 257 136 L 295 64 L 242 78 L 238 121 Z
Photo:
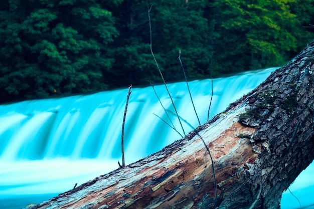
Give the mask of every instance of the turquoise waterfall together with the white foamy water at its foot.
M 274 70 L 214 79 L 210 118 L 253 90 Z M 205 123 L 211 80 L 192 81 L 189 86 L 200 121 Z M 197 127 L 186 83 L 168 87 L 180 116 Z M 165 86 L 154 88 L 164 107 L 173 111 Z M 48 198 L 36 199 L 38 194 L 51 193 L 52 197 L 75 183 L 118 168 L 126 94 L 127 89 L 0 105 L 0 208 L 21 208 L 32 200 L 38 203 Z M 154 114 L 169 122 L 151 87 L 133 88 L 124 130 L 126 164 L 181 138 Z M 177 117 L 171 115 L 171 120 L 183 134 Z M 191 131 L 184 122 L 183 127 L 186 133 Z M 33 198 L 21 200 L 25 195 Z M 289 193 L 284 193 L 283 199 L 285 195 Z M 289 206 L 282 203 L 282 208 L 293 208 Z

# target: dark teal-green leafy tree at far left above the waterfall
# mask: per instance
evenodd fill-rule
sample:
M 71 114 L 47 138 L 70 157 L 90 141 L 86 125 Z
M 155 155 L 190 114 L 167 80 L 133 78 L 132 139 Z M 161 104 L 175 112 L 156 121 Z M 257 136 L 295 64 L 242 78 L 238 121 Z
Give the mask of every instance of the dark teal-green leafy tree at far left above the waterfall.
M 112 1 L 116 2 L 116 1 Z M 118 35 L 98 1 L 8 1 L 2 10 L 2 101 L 107 88 L 103 69 Z

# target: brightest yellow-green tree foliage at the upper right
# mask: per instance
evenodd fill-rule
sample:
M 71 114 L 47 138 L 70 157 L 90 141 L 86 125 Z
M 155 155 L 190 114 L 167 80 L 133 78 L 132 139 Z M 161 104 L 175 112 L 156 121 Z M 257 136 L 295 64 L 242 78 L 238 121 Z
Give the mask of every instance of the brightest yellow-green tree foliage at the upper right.
M 227 61 L 231 71 L 240 67 L 247 70 L 284 64 L 299 48 L 298 35 L 302 26 L 297 15 L 303 15 L 302 9 L 298 11 L 300 14 L 290 10 L 290 5 L 296 2 L 301 1 L 215 1 L 216 30 L 224 35 L 224 41 L 216 43 L 218 59 Z M 305 42 L 309 41 L 307 37 Z M 232 51 L 224 53 L 226 48 L 223 46 Z M 239 56 L 241 58 L 236 61 Z

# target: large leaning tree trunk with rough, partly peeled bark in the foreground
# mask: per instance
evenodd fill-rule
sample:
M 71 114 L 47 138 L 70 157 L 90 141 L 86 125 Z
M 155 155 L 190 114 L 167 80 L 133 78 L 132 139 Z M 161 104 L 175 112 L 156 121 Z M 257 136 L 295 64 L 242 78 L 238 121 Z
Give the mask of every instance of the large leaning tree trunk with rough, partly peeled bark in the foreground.
M 218 208 L 280 208 L 282 191 L 314 159 L 313 49 L 198 128 L 215 162 Z M 206 153 L 191 132 L 32 208 L 213 208 Z

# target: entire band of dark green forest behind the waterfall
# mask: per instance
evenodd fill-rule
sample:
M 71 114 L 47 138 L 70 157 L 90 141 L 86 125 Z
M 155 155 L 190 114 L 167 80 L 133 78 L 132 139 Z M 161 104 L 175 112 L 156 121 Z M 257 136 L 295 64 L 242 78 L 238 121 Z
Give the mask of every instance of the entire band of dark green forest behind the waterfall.
M 0 102 L 281 66 L 313 39 L 314 0 L 4 0 Z

